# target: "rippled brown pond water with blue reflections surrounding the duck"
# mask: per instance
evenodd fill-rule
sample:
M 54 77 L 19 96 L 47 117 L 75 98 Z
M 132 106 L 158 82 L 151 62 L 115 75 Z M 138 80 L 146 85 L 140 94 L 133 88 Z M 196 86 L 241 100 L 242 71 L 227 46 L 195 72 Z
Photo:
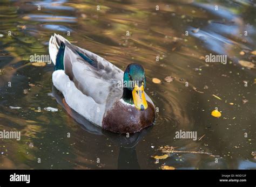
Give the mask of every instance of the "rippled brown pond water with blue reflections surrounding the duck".
M 1 169 L 256 169 L 253 1 L 3 0 L 0 10 L 0 131 L 21 132 L 0 139 Z M 52 87 L 53 64 L 30 62 L 49 54 L 53 33 L 123 70 L 142 64 L 156 124 L 126 138 L 75 121 Z M 210 54 L 227 63 L 206 63 Z M 175 139 L 180 130 L 197 140 Z M 156 163 L 166 145 L 218 157 L 173 153 Z

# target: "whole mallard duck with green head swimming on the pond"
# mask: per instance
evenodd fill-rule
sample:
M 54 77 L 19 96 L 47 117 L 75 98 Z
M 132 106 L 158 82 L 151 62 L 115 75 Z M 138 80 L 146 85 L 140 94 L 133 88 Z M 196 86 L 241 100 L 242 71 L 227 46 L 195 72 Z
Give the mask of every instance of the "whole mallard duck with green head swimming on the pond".
M 122 71 L 102 57 L 54 34 L 49 54 L 53 85 L 65 102 L 92 124 L 116 133 L 135 133 L 154 123 L 154 104 L 145 93 L 142 66 Z

